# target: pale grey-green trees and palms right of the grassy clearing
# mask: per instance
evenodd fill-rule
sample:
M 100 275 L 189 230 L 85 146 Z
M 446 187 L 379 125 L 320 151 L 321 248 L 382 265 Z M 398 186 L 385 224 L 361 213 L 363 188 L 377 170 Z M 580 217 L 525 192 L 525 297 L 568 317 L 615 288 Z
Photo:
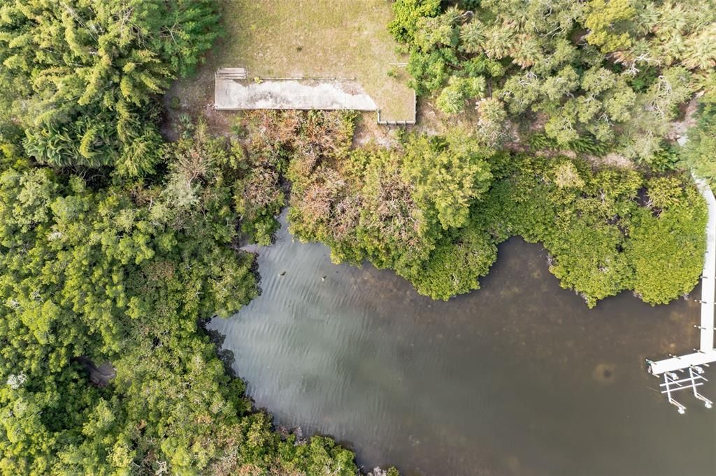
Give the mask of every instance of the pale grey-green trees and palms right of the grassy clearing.
M 541 129 L 538 119 L 561 149 L 595 139 L 659 170 L 677 107 L 698 89 L 713 90 L 710 2 L 485 0 L 465 11 L 421 5 L 394 4 L 415 19 L 410 34 L 395 35 L 410 52 L 412 86 L 434 94 L 448 114 L 462 113 L 468 99 L 500 102 L 508 115 L 494 116 L 493 131 L 506 129 L 509 117 L 533 122 L 523 124 L 532 132 Z M 485 81 L 480 94 L 468 94 L 469 79 Z M 483 127 L 475 124 L 478 134 Z

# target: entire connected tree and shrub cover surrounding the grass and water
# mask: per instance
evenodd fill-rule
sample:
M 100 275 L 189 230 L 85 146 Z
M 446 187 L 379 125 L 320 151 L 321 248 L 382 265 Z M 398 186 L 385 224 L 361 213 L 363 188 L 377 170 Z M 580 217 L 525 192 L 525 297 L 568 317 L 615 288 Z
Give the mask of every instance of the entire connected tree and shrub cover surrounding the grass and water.
M 2 474 L 357 474 L 330 437 L 278 432 L 203 329 L 258 294 L 241 244 L 270 244 L 286 204 L 299 239 L 435 299 L 478 289 L 514 235 L 590 307 L 690 292 L 712 2 L 452 3 L 397 0 L 389 28 L 418 93 L 465 120 L 379 147 L 352 112 L 162 124 L 222 34 L 216 1 L 0 0 Z M 609 154 L 630 167 L 594 164 Z M 116 377 L 92 385 L 87 362 Z

